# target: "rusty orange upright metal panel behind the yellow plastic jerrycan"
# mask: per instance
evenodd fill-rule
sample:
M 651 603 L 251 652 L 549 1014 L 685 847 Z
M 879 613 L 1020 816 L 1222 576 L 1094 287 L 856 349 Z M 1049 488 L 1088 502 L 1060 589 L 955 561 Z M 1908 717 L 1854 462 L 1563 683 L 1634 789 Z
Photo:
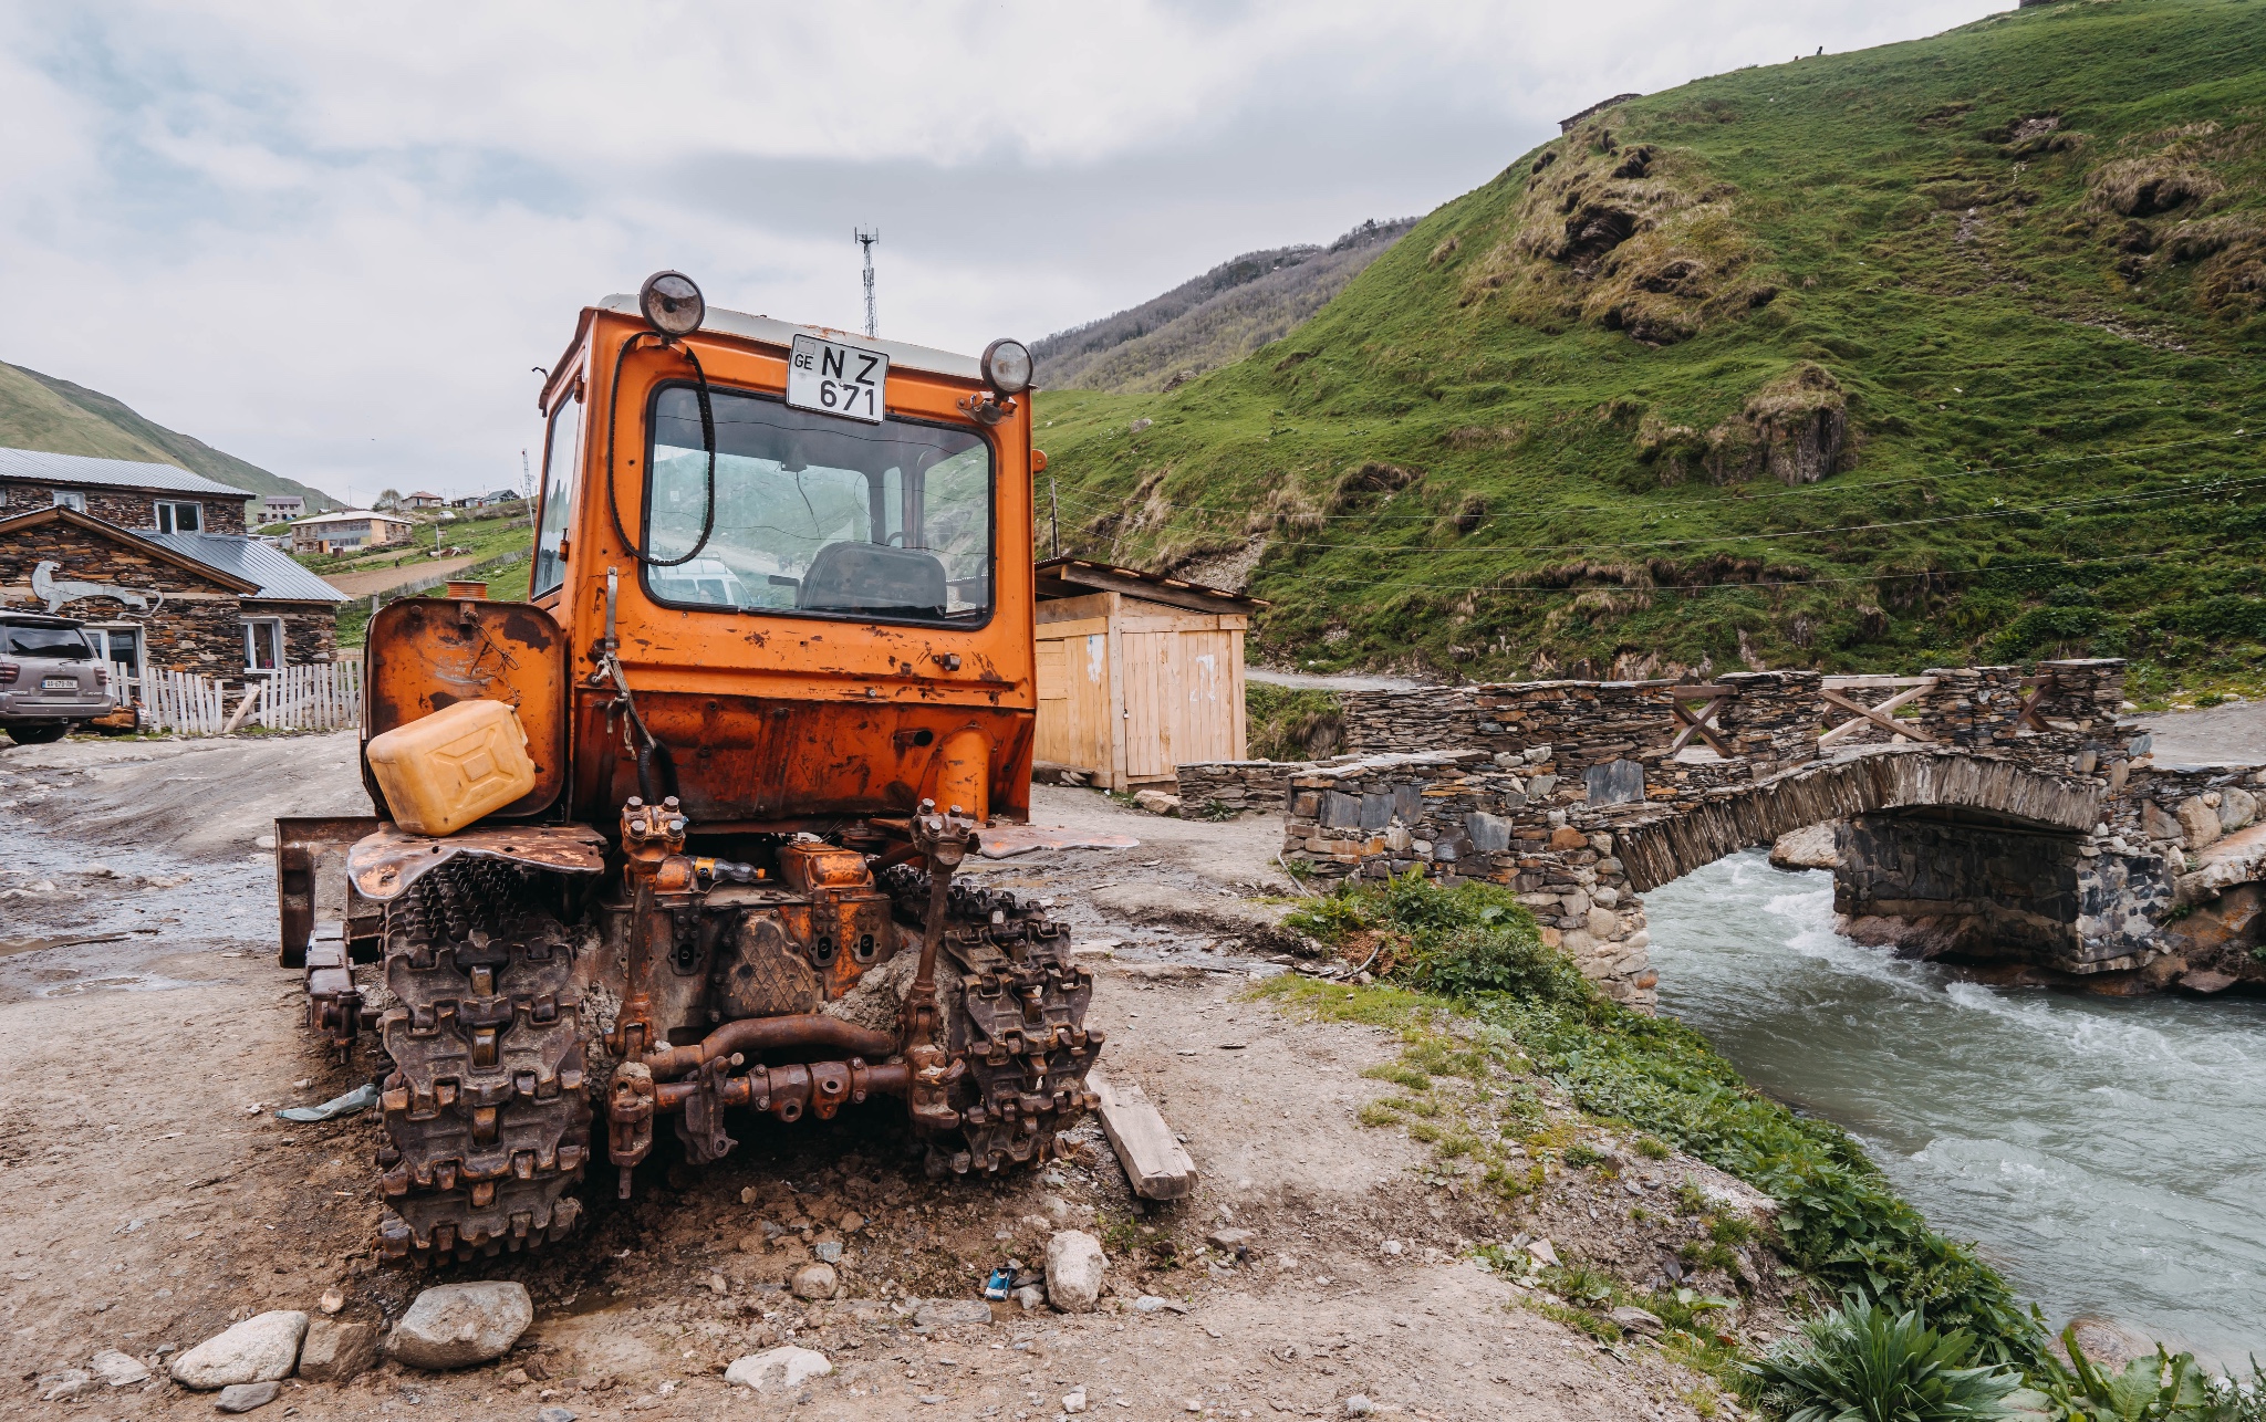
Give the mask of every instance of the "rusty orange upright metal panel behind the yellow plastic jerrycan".
M 539 815 L 557 804 L 566 788 L 569 670 L 566 636 L 548 611 L 485 598 L 401 598 L 369 618 L 367 657 L 363 745 L 455 702 L 505 702 L 528 734 L 535 788 L 492 817 Z

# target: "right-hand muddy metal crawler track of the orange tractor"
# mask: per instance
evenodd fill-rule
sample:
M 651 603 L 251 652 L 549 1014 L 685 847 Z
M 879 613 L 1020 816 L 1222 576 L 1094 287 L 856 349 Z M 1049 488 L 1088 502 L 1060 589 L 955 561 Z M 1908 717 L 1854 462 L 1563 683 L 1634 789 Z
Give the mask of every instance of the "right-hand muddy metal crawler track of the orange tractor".
M 929 874 L 895 865 L 881 888 L 897 917 L 922 924 Z M 1094 976 L 1072 962 L 1070 928 L 1004 890 L 954 883 L 945 899 L 943 949 L 961 969 L 947 1048 L 968 1073 L 954 1087 L 959 1150 L 940 1150 L 959 1173 L 1042 1166 L 1060 1132 L 1094 1110 L 1085 1069 L 1104 1035 L 1085 1026 Z

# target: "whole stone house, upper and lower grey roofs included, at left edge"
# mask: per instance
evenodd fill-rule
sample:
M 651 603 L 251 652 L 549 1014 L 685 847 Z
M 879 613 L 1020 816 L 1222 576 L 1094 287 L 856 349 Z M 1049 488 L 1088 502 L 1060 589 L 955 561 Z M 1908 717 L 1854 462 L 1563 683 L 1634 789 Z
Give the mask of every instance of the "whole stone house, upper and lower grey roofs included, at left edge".
M 249 498 L 172 464 L 0 448 L 0 607 L 86 623 L 131 679 L 331 661 L 347 596 L 247 537 Z

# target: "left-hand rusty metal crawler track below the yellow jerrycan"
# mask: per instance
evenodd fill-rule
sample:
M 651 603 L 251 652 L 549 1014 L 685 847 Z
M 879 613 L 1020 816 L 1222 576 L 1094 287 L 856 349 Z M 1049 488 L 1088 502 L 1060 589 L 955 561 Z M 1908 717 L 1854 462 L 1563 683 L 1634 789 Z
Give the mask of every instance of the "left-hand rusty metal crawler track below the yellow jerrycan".
M 471 1259 L 564 1239 L 589 1159 L 576 942 L 544 876 L 460 858 L 385 910 L 378 1035 L 390 1259 Z

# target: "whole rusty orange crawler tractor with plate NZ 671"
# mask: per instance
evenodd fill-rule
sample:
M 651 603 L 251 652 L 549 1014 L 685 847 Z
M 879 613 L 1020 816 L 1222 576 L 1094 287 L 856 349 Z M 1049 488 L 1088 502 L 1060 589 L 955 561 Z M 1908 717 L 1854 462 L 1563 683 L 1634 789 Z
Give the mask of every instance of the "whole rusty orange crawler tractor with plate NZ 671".
M 387 1057 L 385 1254 L 560 1239 L 662 1123 L 698 1164 L 888 1096 L 931 1168 L 990 1173 L 1094 1105 L 1067 931 L 954 883 L 1029 833 L 1029 387 L 1015 342 L 707 310 L 675 272 L 582 310 L 528 602 L 378 611 L 378 815 L 276 824 L 308 1021 Z

